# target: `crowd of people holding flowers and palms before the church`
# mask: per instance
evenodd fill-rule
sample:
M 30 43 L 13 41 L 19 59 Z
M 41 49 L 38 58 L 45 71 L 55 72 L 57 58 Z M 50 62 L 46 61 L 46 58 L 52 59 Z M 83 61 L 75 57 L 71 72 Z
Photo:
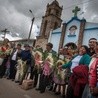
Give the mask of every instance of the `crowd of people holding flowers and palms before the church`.
M 29 75 L 40 93 L 47 89 L 62 98 L 97 98 L 97 39 L 89 39 L 88 46 L 65 45 L 58 53 L 52 43 L 43 50 L 40 45 L 13 46 L 5 39 L 0 46 L 0 78 L 22 85 Z

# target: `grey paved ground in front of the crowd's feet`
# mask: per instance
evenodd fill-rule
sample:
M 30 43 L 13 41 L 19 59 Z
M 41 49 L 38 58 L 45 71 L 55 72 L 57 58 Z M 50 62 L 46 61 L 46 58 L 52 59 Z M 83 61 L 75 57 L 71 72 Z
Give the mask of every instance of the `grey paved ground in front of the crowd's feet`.
M 21 87 L 11 80 L 0 79 L 0 98 L 61 98 L 51 91 L 40 94 L 35 89 L 23 90 Z

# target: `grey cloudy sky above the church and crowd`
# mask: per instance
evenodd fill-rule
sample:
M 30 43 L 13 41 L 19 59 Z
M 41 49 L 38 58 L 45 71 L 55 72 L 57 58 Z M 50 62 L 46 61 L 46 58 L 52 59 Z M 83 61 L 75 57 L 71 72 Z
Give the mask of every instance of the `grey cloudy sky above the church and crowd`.
M 0 0 L 0 30 L 7 28 L 12 37 L 28 38 L 31 19 L 35 17 L 31 38 L 39 32 L 42 16 L 46 11 L 47 3 L 54 0 Z M 62 20 L 68 21 L 73 16 L 72 9 L 79 6 L 79 18 L 88 22 L 98 23 L 98 0 L 58 0 L 63 6 Z M 32 10 L 33 14 L 29 12 Z

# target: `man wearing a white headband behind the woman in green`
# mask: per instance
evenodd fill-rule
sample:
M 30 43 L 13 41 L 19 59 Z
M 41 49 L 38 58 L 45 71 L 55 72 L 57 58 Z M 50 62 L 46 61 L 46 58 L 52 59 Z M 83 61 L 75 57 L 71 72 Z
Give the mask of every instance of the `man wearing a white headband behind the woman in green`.
M 90 38 L 89 39 L 89 55 L 92 56 L 95 54 L 95 46 L 97 44 L 97 39 L 96 38 Z

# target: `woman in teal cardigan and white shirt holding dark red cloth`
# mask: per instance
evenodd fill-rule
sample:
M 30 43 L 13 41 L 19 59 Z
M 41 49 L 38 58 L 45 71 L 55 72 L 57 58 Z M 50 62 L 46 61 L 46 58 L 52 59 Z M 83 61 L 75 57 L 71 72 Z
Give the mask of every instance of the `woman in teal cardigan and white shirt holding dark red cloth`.
M 71 69 L 71 77 L 68 83 L 66 98 L 82 97 L 84 87 L 88 82 L 88 65 L 91 60 L 88 52 L 88 47 L 82 45 L 79 49 L 79 53 L 67 64 L 62 65 L 62 68 Z

